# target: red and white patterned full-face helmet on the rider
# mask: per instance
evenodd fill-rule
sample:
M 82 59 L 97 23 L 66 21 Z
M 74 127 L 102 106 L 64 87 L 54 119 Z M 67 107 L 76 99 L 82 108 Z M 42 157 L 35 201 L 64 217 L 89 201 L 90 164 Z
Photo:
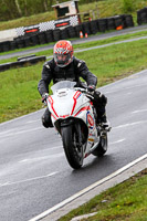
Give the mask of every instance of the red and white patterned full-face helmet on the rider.
M 73 46 L 70 41 L 61 40 L 53 49 L 54 61 L 57 66 L 64 67 L 73 61 Z

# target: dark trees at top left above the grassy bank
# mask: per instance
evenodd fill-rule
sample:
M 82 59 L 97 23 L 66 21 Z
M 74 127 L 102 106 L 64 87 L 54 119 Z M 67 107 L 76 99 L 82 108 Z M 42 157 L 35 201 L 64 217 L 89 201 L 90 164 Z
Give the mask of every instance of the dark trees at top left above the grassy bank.
M 0 0 L 0 21 L 9 21 L 21 17 L 30 17 L 46 11 L 52 11 L 52 6 L 65 0 Z M 80 4 L 95 0 L 80 0 Z

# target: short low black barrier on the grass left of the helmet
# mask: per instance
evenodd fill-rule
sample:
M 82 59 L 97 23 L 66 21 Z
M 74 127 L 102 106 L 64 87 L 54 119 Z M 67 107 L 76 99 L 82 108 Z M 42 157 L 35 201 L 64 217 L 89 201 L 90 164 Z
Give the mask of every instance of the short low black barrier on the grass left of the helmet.
M 0 64 L 0 72 L 10 70 L 10 69 L 14 69 L 14 67 L 22 67 L 22 66 L 27 66 L 27 65 L 32 65 L 32 64 L 36 64 L 38 62 L 41 61 L 45 61 L 46 56 L 35 56 L 30 55 L 30 56 L 23 56 L 23 57 L 18 57 L 17 62 L 10 62 L 10 63 L 6 63 L 6 64 Z

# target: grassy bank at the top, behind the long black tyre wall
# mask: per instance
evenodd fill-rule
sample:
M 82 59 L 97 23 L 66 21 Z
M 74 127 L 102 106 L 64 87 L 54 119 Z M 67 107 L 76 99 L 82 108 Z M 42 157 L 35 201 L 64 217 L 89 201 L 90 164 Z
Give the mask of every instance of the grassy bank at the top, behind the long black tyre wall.
M 136 11 L 139 9 L 143 9 L 146 7 L 146 0 L 135 0 L 133 2 L 133 17 L 134 17 L 134 22 L 135 24 L 137 23 L 137 13 Z M 113 17 L 117 14 L 123 14 L 125 13 L 124 11 L 124 4 L 123 0 L 103 0 L 103 1 L 95 1 L 92 3 L 86 3 L 86 4 L 80 4 L 80 12 L 88 12 L 91 10 L 95 10 L 96 8 L 98 11 L 95 12 L 95 19 L 97 19 L 97 12 L 98 12 L 98 18 L 107 18 L 107 17 Z M 114 10 L 115 9 L 115 10 Z M 83 17 L 82 17 L 83 19 Z M 51 21 L 55 20 L 55 13 L 54 11 L 49 11 L 45 13 L 40 13 L 40 14 L 34 14 L 31 17 L 24 17 L 21 19 L 15 19 L 11 21 L 6 21 L 6 22 L 0 22 L 0 30 L 6 30 L 6 29 L 13 29 L 18 27 L 27 27 L 27 25 L 33 25 L 38 24 L 40 22 L 45 22 L 45 21 Z

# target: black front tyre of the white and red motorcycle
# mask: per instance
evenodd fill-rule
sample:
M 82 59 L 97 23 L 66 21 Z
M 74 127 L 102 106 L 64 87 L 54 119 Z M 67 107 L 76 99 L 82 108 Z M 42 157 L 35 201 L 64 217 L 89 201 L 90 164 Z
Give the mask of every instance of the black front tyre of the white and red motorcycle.
M 61 129 L 63 147 L 66 159 L 73 169 L 80 169 L 83 165 L 83 145 L 78 144 L 78 134 L 74 125 Z

